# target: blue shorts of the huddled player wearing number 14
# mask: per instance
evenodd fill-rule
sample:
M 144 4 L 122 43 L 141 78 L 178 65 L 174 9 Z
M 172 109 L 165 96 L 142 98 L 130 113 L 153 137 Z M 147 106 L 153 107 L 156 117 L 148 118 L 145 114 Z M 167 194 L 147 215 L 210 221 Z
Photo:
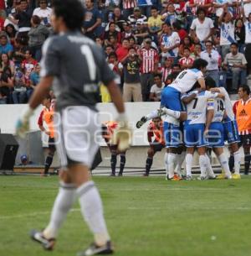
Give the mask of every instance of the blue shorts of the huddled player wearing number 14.
M 223 123 L 214 122 L 210 124 L 207 140 L 208 140 L 209 148 L 224 147 Z

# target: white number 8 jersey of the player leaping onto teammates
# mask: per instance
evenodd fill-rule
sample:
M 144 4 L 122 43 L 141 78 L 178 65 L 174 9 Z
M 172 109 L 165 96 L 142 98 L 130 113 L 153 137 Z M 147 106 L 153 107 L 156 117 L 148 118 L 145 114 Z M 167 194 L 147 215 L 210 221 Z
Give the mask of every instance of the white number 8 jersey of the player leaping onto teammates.
M 175 81 L 172 82 L 170 87 L 175 88 L 177 91 L 181 93 L 186 93 L 192 89 L 192 86 L 197 82 L 198 79 L 202 78 L 202 71 L 197 69 L 189 69 L 182 71 L 176 78 Z

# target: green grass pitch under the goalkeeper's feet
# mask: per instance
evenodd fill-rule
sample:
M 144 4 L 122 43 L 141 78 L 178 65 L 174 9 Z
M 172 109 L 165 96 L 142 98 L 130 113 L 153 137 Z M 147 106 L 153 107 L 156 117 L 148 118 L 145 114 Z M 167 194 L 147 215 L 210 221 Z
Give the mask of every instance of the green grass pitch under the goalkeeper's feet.
M 251 179 L 166 181 L 95 177 L 117 256 L 250 255 Z M 70 256 L 92 242 L 79 206 L 69 213 L 54 252 L 28 238 L 43 228 L 57 177 L 0 177 L 0 255 Z

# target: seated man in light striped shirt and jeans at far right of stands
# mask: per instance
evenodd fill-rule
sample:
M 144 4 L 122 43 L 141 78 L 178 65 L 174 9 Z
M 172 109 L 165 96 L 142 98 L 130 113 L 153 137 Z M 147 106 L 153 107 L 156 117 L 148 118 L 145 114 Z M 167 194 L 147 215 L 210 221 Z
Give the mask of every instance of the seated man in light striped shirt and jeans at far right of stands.
M 238 44 L 231 44 L 230 53 L 226 55 L 223 64 L 224 67 L 232 74 L 231 89 L 236 93 L 238 91 L 239 84 L 246 84 L 247 76 L 247 60 L 242 53 L 238 52 Z

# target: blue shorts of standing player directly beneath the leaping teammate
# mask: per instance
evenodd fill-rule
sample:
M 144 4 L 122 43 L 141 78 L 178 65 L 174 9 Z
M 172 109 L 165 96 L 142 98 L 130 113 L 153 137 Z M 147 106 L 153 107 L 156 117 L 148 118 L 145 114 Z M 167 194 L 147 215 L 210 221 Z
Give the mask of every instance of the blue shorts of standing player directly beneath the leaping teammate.
M 164 122 L 166 148 L 178 148 L 182 145 L 182 130 L 180 124 Z

